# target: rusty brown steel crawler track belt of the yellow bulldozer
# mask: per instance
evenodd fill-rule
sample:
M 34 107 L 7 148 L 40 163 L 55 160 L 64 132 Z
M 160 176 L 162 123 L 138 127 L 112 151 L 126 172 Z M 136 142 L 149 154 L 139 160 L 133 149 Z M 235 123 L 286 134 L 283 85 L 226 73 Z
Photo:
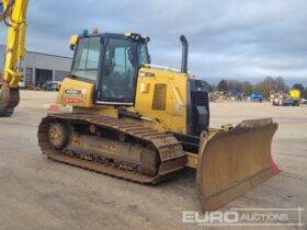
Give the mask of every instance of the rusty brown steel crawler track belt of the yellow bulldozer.
M 130 139 L 133 138 L 134 141 L 143 146 L 149 145 L 159 156 L 157 173 L 155 173 L 155 175 L 141 174 L 137 171 L 122 168 L 118 163 L 106 161 L 105 158 L 99 158 L 98 160 L 96 156 L 93 154 L 89 148 L 91 147 L 90 142 L 88 143 L 88 151 L 75 151 L 72 147 L 69 147 L 70 145 L 59 150 L 52 145 L 48 136 L 48 129 L 54 123 L 69 124 L 70 127 L 76 127 L 80 124 L 88 127 L 95 127 L 96 129 L 102 128 L 110 133 L 118 131 L 128 136 Z M 103 115 L 73 113 L 48 114 L 42 119 L 37 135 L 38 145 L 43 154 L 46 154 L 55 161 L 141 184 L 156 184 L 174 176 L 178 171 L 184 168 L 186 160 L 181 142 L 179 142 L 173 135 L 145 127 L 138 123 L 127 123 Z M 91 136 L 88 136 L 88 138 L 93 139 Z M 72 137 L 70 136 L 70 140 L 71 139 Z M 121 145 L 121 141 L 117 141 L 118 145 Z M 144 147 L 144 150 L 145 149 Z M 123 163 L 125 163 L 124 161 L 125 160 L 122 160 Z

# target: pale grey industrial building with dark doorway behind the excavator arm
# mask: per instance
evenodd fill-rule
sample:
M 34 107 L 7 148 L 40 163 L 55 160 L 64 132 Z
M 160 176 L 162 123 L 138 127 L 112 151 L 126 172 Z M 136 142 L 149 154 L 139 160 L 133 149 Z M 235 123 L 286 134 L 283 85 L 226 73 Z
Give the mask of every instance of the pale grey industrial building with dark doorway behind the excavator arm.
M 0 72 L 3 73 L 5 46 L 0 45 Z M 42 85 L 47 81 L 61 81 L 70 71 L 72 58 L 35 51 L 26 51 L 24 61 L 25 78 L 20 84 Z

